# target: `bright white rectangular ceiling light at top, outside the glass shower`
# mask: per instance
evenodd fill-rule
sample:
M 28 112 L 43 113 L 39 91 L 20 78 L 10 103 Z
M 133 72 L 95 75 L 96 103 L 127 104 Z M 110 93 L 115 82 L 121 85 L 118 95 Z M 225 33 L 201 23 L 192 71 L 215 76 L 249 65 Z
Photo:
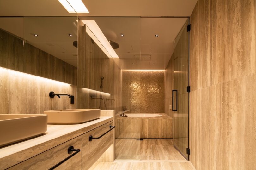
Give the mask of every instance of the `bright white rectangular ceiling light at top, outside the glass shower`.
M 82 0 L 58 0 L 69 13 L 89 13 Z

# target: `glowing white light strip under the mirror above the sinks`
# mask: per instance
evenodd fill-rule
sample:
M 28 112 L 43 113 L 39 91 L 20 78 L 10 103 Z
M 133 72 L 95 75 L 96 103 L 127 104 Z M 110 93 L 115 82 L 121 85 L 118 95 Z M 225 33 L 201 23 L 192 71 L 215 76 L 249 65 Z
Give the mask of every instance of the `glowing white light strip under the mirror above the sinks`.
M 10 69 L 3 68 L 3 67 L 0 67 L 0 74 L 2 74 L 2 75 L 11 74 L 10 76 L 15 76 L 15 77 L 19 77 L 19 78 L 22 78 L 22 79 L 27 79 L 29 82 L 34 79 L 34 80 L 39 81 L 40 83 L 43 83 L 43 84 L 54 82 L 54 83 L 60 84 L 60 85 L 67 85 L 67 86 L 71 85 L 71 84 L 68 84 L 68 83 L 59 82 L 59 81 L 56 81 L 56 80 L 52 80 L 52 79 L 48 79 L 48 78 L 44 78 L 44 77 L 40 77 L 40 76 L 34 76 L 34 75 L 31 75 L 31 74 L 27 74 L 27 73 L 23 73 L 23 72 L 20 72 L 20 71 L 15 71 L 15 70 L 10 70 Z

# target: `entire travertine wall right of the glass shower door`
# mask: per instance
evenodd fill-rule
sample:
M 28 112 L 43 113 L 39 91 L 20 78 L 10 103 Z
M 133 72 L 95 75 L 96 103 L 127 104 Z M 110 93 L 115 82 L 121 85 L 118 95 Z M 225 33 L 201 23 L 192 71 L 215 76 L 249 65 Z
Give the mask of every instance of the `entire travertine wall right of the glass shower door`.
M 189 121 L 196 169 L 255 167 L 255 7 L 253 0 L 199 0 L 192 12 Z

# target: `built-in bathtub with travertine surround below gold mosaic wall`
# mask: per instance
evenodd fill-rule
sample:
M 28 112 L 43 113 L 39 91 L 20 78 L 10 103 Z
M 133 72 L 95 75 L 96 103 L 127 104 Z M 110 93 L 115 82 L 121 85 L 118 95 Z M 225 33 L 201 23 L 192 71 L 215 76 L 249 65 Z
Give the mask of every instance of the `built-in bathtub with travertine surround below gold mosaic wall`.
M 165 113 L 125 113 L 116 116 L 116 138 L 169 139 L 172 136 L 172 117 Z

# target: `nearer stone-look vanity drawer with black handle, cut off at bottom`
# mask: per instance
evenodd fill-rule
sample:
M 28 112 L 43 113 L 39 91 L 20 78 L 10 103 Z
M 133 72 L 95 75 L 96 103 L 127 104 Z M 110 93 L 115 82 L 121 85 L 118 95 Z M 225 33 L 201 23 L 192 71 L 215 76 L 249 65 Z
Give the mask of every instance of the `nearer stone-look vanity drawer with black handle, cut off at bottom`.
M 26 161 L 23 161 L 9 169 L 36 169 L 36 170 L 45 170 L 53 167 L 59 162 L 63 161 L 65 158 L 74 154 L 68 154 L 68 148 L 73 146 L 74 149 L 82 149 L 82 136 L 78 136 L 74 139 L 71 139 L 63 144 L 55 146 L 50 150 L 34 156 Z M 78 152 L 76 155 L 72 156 L 70 159 L 64 161 L 61 165 L 55 169 L 81 169 L 82 168 L 82 152 Z

